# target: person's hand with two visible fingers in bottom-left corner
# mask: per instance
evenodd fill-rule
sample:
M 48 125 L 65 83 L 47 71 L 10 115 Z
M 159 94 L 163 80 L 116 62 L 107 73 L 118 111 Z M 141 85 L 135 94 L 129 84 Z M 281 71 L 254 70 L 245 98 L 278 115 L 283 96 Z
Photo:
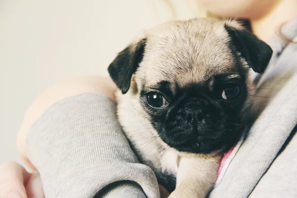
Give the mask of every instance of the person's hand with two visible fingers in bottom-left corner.
M 44 198 L 38 173 L 28 173 L 15 162 L 0 164 L 0 198 Z

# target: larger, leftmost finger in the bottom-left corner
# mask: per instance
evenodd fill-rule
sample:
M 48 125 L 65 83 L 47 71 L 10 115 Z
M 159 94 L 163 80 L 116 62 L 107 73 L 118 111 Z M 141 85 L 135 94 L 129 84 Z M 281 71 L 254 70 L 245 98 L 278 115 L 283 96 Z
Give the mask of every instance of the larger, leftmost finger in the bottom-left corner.
M 24 183 L 30 176 L 18 163 L 0 164 L 0 198 L 27 198 Z

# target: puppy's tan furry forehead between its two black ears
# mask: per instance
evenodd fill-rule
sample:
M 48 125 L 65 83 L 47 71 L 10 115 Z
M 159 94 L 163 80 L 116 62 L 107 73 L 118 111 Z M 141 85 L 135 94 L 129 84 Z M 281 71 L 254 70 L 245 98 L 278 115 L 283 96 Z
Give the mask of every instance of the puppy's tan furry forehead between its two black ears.
M 194 19 L 169 22 L 146 32 L 148 42 L 140 67 L 146 82 L 174 81 L 184 86 L 218 74 L 236 74 L 224 25 Z

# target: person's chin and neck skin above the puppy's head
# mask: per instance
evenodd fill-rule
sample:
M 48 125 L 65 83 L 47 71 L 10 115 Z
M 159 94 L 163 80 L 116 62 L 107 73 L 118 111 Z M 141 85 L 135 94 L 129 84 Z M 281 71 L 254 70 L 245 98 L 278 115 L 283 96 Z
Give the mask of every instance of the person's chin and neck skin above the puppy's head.
M 297 0 L 198 0 L 212 14 L 249 19 L 253 33 L 263 41 L 297 15 Z

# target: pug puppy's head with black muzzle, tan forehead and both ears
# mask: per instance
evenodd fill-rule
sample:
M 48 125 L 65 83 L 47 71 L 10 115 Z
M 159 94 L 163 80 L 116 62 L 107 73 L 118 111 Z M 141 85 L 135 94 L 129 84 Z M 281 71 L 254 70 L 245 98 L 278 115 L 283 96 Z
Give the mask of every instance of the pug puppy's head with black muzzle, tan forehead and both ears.
M 164 143 L 209 153 L 240 135 L 252 95 L 248 70 L 263 72 L 271 53 L 234 21 L 193 19 L 148 30 L 108 71 Z

